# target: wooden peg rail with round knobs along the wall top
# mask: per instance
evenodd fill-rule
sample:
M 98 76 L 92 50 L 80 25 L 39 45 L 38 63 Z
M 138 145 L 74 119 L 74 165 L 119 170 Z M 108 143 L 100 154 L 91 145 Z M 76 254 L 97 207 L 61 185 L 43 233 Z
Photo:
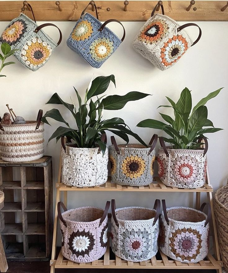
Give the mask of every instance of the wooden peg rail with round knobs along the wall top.
M 29 1 L 28 1 L 29 2 Z M 37 21 L 77 21 L 89 1 L 30 1 Z M 95 1 L 99 19 L 119 21 L 146 21 L 158 1 Z M 176 21 L 228 21 L 227 1 L 195 1 L 194 8 L 186 9 L 190 1 L 163 1 L 165 14 Z M 16 18 L 23 1 L 0 1 L 0 21 Z M 23 11 L 32 18 L 27 7 Z M 87 12 L 95 15 L 90 6 Z M 159 11 L 161 12 L 161 11 Z

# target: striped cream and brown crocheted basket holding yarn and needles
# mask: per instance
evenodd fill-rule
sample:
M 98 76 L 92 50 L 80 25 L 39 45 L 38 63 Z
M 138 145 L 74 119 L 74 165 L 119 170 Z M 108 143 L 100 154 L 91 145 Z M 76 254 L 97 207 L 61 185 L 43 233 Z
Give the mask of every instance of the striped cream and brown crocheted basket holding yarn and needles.
M 44 153 L 43 110 L 39 110 L 36 121 L 25 124 L 0 123 L 0 153 L 2 160 L 24 162 L 41 158 Z

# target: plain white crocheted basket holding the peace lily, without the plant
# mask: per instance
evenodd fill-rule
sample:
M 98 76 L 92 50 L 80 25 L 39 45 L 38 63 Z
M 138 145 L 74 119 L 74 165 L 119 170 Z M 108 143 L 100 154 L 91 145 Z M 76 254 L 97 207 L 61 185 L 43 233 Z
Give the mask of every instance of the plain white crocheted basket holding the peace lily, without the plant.
M 66 143 L 61 138 L 62 175 L 61 181 L 78 188 L 104 184 L 108 179 L 108 147 L 102 155 L 101 149 L 78 148 L 75 143 Z M 103 134 L 101 141 L 107 141 Z

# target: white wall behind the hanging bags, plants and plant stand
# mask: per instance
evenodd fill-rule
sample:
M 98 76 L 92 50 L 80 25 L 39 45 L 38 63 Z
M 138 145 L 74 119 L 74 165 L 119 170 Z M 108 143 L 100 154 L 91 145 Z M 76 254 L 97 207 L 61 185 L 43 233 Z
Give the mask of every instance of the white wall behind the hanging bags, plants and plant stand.
M 38 22 L 38 24 L 42 23 L 44 22 Z M 7 24 L 7 22 L 0 22 L 0 33 Z M 55 24 L 62 30 L 63 41 L 44 67 L 37 72 L 32 72 L 12 57 L 11 60 L 16 61 L 16 64 L 3 70 L 7 77 L 0 79 L 0 115 L 7 111 L 5 105 L 8 103 L 17 115 L 21 115 L 27 120 L 35 119 L 38 109 L 43 109 L 44 113 L 51 109 L 52 105 L 45 105 L 45 102 L 53 93 L 57 92 L 63 100 L 70 102 L 70 96 L 76 100 L 73 86 L 83 96 L 93 74 L 94 77 L 114 74 L 117 88 L 115 89 L 114 85 L 110 84 L 110 88 L 106 92 L 107 95 L 123 95 L 129 91 L 141 91 L 153 94 L 153 96 L 141 101 L 129 102 L 119 111 L 105 111 L 104 118 L 123 118 L 134 132 L 138 133 L 145 142 L 149 142 L 154 132 L 160 135 L 162 133 L 153 129 L 135 128 L 135 126 L 139 121 L 146 118 L 162 120 L 159 115 L 159 111 L 162 109 L 157 110 L 157 107 L 167 104 L 165 96 L 177 101 L 181 90 L 188 87 L 192 90 L 193 104 L 196 104 L 208 93 L 225 87 L 217 98 L 207 103 L 207 106 L 208 118 L 216 127 L 224 128 L 223 131 L 208 134 L 208 162 L 211 182 L 214 189 L 226 183 L 228 177 L 227 22 L 198 22 L 203 33 L 199 43 L 188 50 L 179 63 L 163 72 L 142 58 L 132 48 L 133 38 L 144 24 L 143 22 L 123 22 L 126 29 L 126 39 L 100 69 L 90 67 L 66 46 L 66 40 L 75 22 L 55 22 Z M 120 25 L 111 23 L 110 28 L 119 36 L 122 35 Z M 190 27 L 188 31 L 193 39 L 198 36 L 196 28 Z M 55 28 L 48 27 L 47 32 L 57 41 L 58 33 Z M 64 118 L 72 126 L 75 125 L 71 115 L 63 106 L 53 105 L 53 108 L 58 108 Z M 163 109 L 163 113 L 170 114 L 171 112 L 169 108 L 166 108 Z M 56 145 L 55 140 L 53 140 L 46 146 L 48 138 L 59 126 L 57 122 L 52 120 L 51 124 L 51 127 L 45 125 L 45 154 L 53 157 L 53 195 L 55 201 L 60 143 Z M 108 134 L 108 139 L 110 143 L 110 134 Z M 134 139 L 130 138 L 130 141 L 134 142 Z M 119 139 L 118 142 L 120 142 Z M 68 207 L 85 205 L 104 207 L 105 201 L 111 198 L 116 199 L 117 207 L 136 205 L 151 207 L 155 198 L 166 198 L 168 206 L 192 206 L 193 204 L 193 194 L 187 193 L 101 193 L 87 191 L 69 194 Z

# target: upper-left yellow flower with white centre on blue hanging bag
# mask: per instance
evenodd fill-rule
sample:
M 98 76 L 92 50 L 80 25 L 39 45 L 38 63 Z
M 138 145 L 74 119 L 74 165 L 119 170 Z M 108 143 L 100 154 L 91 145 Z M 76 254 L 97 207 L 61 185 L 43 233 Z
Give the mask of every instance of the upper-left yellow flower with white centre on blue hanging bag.
M 88 21 L 81 21 L 74 28 L 71 37 L 76 41 L 83 41 L 85 39 L 88 39 L 91 36 L 92 32 L 93 31 L 91 23 Z

